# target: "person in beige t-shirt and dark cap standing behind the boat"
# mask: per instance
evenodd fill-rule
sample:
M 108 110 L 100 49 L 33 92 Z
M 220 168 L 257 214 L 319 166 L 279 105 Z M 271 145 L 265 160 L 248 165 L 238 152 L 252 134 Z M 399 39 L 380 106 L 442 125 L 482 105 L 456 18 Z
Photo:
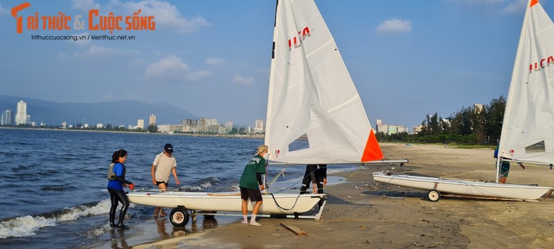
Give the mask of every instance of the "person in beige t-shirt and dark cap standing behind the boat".
M 163 147 L 163 152 L 158 154 L 154 158 L 152 163 L 152 184 L 157 185 L 160 190 L 167 190 L 169 183 L 170 173 L 173 172 L 175 177 L 175 183 L 179 185 L 179 178 L 177 178 L 177 161 L 173 156 L 173 146 L 166 144 Z M 156 207 L 154 216 L 165 216 L 166 212 L 163 212 L 163 208 Z

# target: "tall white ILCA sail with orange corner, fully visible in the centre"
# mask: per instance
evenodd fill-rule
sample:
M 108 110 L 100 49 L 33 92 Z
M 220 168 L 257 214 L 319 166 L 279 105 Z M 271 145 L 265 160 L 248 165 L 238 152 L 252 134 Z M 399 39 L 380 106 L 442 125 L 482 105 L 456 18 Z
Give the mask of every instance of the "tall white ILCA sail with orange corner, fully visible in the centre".
M 280 163 L 361 163 L 382 151 L 312 0 L 278 0 L 265 144 Z

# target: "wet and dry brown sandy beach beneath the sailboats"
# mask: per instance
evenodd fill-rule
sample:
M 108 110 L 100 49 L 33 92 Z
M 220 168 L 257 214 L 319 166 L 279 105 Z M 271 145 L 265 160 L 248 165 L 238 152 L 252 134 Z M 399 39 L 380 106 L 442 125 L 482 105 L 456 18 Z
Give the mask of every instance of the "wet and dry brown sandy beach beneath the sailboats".
M 321 220 L 262 218 L 261 227 L 238 216 L 199 216 L 173 228 L 153 221 L 138 235 L 114 232 L 102 248 L 554 248 L 554 195 L 544 201 L 499 201 L 443 197 L 427 200 L 424 190 L 375 183 L 372 172 L 494 181 L 492 149 L 443 145 L 381 144 L 399 165 L 372 165 L 337 174 L 347 183 L 325 188 L 329 200 Z M 554 186 L 554 171 L 539 165 L 512 165 L 508 183 Z M 285 228 L 305 232 L 297 235 Z

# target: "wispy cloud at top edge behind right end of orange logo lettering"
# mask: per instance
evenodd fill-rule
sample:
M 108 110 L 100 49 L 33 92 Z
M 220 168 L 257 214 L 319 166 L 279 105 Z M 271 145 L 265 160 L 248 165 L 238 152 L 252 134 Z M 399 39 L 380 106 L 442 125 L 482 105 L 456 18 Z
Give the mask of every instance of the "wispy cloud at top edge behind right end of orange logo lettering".
M 140 15 L 154 16 L 156 28 L 160 26 L 175 28 L 178 33 L 193 33 L 204 26 L 213 25 L 199 16 L 192 18 L 183 17 L 181 12 L 177 10 L 177 6 L 172 6 L 166 1 L 144 0 L 138 3 L 112 1 L 112 3 L 123 6 L 129 15 L 141 10 Z

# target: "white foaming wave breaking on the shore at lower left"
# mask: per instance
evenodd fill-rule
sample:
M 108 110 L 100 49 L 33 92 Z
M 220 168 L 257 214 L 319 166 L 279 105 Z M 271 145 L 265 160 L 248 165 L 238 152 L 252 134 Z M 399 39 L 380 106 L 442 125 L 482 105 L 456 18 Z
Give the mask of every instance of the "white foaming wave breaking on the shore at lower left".
M 105 199 L 98 203 L 77 205 L 58 212 L 5 219 L 0 222 L 0 239 L 33 236 L 40 228 L 55 226 L 60 222 L 73 221 L 83 216 L 107 214 L 110 205 L 110 200 Z

